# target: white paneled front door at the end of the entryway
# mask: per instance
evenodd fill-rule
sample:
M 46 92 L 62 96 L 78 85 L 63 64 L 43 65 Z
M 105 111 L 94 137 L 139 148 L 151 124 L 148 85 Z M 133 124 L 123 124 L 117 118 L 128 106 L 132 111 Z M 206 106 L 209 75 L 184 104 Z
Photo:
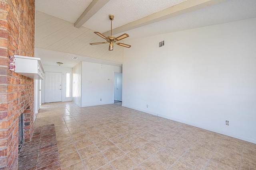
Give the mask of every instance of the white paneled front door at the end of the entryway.
M 45 72 L 45 97 L 44 102 L 61 102 L 62 98 L 62 73 Z

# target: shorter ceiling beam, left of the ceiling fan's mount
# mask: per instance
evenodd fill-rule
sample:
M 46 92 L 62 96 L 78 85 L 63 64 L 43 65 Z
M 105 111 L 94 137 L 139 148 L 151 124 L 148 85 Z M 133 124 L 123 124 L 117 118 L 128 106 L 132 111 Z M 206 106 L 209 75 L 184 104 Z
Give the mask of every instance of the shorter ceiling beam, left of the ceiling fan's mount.
M 80 28 L 86 21 L 88 21 L 94 14 L 98 12 L 110 0 L 93 0 L 90 5 L 84 10 L 83 14 L 75 22 L 74 26 Z

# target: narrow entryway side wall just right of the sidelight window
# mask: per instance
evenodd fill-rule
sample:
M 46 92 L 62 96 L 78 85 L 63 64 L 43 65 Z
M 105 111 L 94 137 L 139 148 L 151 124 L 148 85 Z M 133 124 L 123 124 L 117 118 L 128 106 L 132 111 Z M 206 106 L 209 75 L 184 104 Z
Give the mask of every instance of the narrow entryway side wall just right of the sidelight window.
M 78 63 L 76 66 L 72 68 L 72 74 L 73 74 L 73 79 L 72 79 L 72 91 L 73 91 L 73 96 L 72 96 L 72 101 L 77 105 L 81 107 L 81 95 L 82 95 L 82 63 Z

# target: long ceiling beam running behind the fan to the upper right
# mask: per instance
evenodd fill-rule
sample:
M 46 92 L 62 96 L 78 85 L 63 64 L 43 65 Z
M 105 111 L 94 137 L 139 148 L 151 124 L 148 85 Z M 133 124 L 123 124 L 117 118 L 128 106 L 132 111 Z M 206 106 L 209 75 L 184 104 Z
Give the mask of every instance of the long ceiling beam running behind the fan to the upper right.
M 131 29 L 135 29 L 138 27 L 142 27 L 151 23 L 155 23 L 158 21 L 166 20 L 168 18 L 172 18 L 178 15 L 182 15 L 191 11 L 199 10 L 208 6 L 212 6 L 215 4 L 219 4 L 225 2 L 226 0 L 187 0 L 175 6 L 171 6 L 162 10 L 160 12 L 156 12 L 139 20 L 127 23 L 115 29 L 112 29 L 112 35 L 122 33 L 124 31 L 128 31 Z M 110 34 L 110 31 L 103 33 L 105 36 Z

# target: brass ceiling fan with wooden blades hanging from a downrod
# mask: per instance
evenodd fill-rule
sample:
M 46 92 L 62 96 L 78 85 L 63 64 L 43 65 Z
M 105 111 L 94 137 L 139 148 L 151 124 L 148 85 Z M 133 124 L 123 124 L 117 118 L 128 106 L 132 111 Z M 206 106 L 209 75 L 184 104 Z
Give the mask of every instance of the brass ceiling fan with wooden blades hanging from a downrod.
M 96 33 L 98 36 L 106 39 L 106 41 L 105 42 L 99 42 L 99 43 L 90 43 L 90 45 L 98 45 L 98 44 L 109 43 L 109 47 L 108 47 L 109 51 L 113 50 L 114 43 L 117 44 L 117 45 L 123 46 L 123 47 L 130 48 L 131 46 L 128 45 L 128 44 L 118 43 L 117 42 L 117 41 L 119 41 L 121 39 L 125 39 L 125 38 L 129 37 L 129 35 L 127 33 L 124 33 L 124 34 L 122 34 L 122 35 L 120 35 L 118 37 L 113 37 L 112 36 L 112 21 L 114 20 L 114 16 L 113 15 L 109 15 L 108 18 L 111 21 L 111 31 L 110 31 L 111 35 L 108 36 L 108 37 L 105 37 L 102 33 L 95 31 L 94 33 Z

